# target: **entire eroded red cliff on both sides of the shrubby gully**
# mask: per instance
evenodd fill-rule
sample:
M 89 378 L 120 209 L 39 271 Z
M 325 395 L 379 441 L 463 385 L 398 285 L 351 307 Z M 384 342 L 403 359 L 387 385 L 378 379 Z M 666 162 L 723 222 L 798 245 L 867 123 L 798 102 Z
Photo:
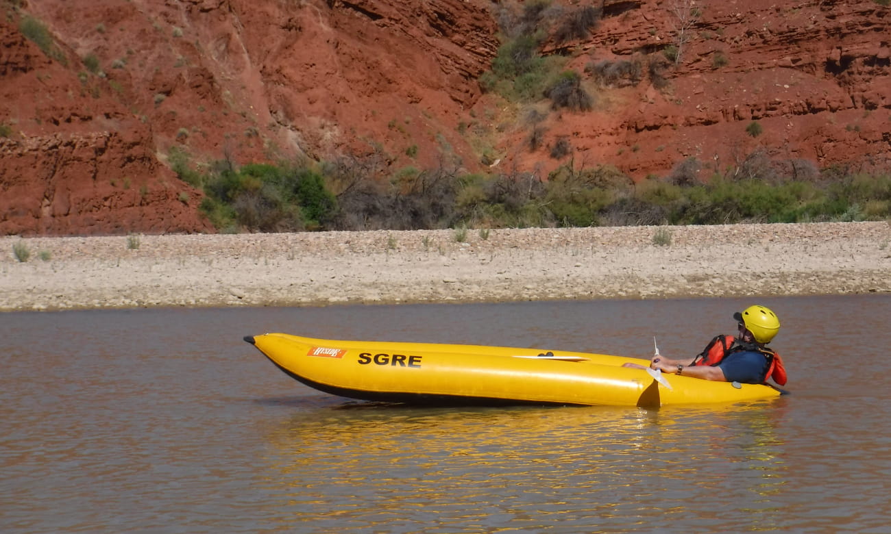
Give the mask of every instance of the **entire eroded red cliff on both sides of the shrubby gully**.
M 686 158 L 711 174 L 753 153 L 854 170 L 891 153 L 891 11 L 873 0 L 606 2 L 592 36 L 550 49 L 568 53 L 594 108 L 549 111 L 535 150 L 521 113 L 477 81 L 501 3 L 85 5 L 0 0 L 0 234 L 212 231 L 200 191 L 169 169 L 173 147 L 193 165 L 375 154 L 395 172 L 475 171 L 492 163 L 485 145 L 495 172 L 546 177 L 572 161 L 635 179 Z M 595 82 L 599 62 L 664 58 L 691 9 L 664 85 L 646 72 Z M 24 17 L 52 53 L 22 35 Z M 558 142 L 569 150 L 552 157 Z

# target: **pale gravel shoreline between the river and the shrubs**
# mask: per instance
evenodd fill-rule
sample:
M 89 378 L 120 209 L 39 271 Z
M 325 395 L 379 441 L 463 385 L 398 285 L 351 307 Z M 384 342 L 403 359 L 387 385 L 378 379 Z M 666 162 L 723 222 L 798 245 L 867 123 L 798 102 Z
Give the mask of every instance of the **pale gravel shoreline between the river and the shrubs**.
M 658 245 L 658 235 L 670 243 Z M 0 311 L 891 292 L 891 223 L 0 238 Z M 128 247 L 138 239 L 138 248 Z M 19 262 L 13 246 L 29 249 Z

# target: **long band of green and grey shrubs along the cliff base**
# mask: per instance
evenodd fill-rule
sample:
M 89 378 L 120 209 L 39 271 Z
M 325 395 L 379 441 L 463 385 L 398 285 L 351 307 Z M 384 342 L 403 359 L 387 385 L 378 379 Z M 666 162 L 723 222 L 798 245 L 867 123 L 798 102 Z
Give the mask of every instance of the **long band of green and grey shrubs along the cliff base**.
M 169 162 L 203 188 L 200 209 L 225 232 L 452 228 L 460 237 L 467 228 L 891 217 L 891 176 L 842 168 L 820 175 L 813 163 L 772 161 L 763 150 L 726 175 L 707 177 L 689 158 L 663 178 L 637 183 L 611 166 L 575 169 L 571 158 L 546 181 L 536 174 L 458 174 L 446 166 L 393 173 L 385 158 L 240 168 L 224 161 L 204 174 L 192 170 L 184 151 L 171 150 Z

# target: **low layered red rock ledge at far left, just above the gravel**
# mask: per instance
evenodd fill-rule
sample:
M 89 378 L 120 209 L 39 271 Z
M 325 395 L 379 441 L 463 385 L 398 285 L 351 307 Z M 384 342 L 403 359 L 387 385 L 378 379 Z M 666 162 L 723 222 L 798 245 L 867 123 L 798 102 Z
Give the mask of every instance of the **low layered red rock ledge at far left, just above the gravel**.
M 146 139 L 130 131 L 0 140 L 0 230 L 20 235 L 210 231 L 198 215 L 198 191 L 159 165 Z

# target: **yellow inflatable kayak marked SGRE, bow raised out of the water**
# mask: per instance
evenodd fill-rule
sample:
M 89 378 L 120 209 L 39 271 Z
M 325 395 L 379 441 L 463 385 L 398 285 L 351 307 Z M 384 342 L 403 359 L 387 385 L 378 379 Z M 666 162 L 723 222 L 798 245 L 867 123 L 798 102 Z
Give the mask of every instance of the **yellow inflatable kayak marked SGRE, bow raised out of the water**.
M 317 390 L 365 401 L 423 404 L 576 404 L 654 407 L 770 399 L 762 384 L 652 376 L 643 360 L 463 344 L 246 336 L 286 374 Z M 661 384 L 660 384 L 661 382 Z

